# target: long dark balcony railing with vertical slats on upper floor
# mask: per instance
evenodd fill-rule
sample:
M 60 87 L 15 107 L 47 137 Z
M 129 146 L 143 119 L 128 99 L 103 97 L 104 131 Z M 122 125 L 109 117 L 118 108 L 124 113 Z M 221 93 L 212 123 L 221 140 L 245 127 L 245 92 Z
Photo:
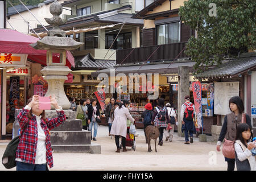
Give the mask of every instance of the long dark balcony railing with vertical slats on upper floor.
M 132 64 L 132 63 L 151 63 L 185 59 L 190 56 L 184 53 L 187 42 L 162 44 L 148 47 L 138 47 L 130 49 L 117 50 L 117 64 Z

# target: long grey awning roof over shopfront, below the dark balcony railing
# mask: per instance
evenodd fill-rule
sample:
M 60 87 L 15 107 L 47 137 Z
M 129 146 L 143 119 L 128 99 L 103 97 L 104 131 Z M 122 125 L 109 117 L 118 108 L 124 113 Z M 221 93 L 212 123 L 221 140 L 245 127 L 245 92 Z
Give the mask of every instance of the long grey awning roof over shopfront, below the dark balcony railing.
M 138 64 L 138 65 L 122 65 L 122 66 L 115 66 L 113 68 L 102 69 L 97 72 L 93 72 L 92 76 L 97 77 L 100 73 L 106 73 L 110 75 L 110 69 L 115 71 L 115 75 L 118 73 L 177 73 L 177 68 L 180 66 L 187 66 L 190 67 L 191 71 L 193 69 L 193 65 L 195 62 L 193 61 L 169 61 L 163 63 L 145 63 L 145 64 Z

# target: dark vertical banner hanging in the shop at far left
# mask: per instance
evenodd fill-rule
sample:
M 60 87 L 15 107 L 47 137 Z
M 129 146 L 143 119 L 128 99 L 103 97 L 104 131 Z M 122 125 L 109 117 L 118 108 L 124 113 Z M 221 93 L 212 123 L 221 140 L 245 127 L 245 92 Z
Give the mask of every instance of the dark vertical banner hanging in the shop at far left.
M 10 101 L 13 101 L 15 106 L 18 106 L 19 102 L 19 77 L 10 77 Z

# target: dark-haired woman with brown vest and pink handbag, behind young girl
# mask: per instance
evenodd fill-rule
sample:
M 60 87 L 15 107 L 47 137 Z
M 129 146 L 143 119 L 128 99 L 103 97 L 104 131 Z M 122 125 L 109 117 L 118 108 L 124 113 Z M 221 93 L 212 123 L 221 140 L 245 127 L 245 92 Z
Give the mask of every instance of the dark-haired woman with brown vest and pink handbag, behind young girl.
M 243 106 L 243 101 L 238 96 L 230 98 L 229 109 L 232 112 L 227 114 L 224 118 L 216 148 L 217 151 L 221 151 L 221 142 L 224 139 L 222 154 L 225 156 L 225 161 L 228 163 L 228 171 L 234 171 L 234 141 L 236 140 L 237 125 L 240 123 L 247 123 L 251 127 L 251 119 L 248 114 L 243 113 L 245 107 Z

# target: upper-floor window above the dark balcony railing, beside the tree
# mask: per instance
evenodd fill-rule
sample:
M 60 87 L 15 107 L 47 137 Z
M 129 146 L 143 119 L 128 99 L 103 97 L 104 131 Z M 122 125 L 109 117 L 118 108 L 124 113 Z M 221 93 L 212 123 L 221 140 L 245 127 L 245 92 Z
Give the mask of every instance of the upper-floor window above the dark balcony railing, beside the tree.
M 157 40 L 160 44 L 171 44 L 180 42 L 180 23 L 161 24 L 157 27 Z

